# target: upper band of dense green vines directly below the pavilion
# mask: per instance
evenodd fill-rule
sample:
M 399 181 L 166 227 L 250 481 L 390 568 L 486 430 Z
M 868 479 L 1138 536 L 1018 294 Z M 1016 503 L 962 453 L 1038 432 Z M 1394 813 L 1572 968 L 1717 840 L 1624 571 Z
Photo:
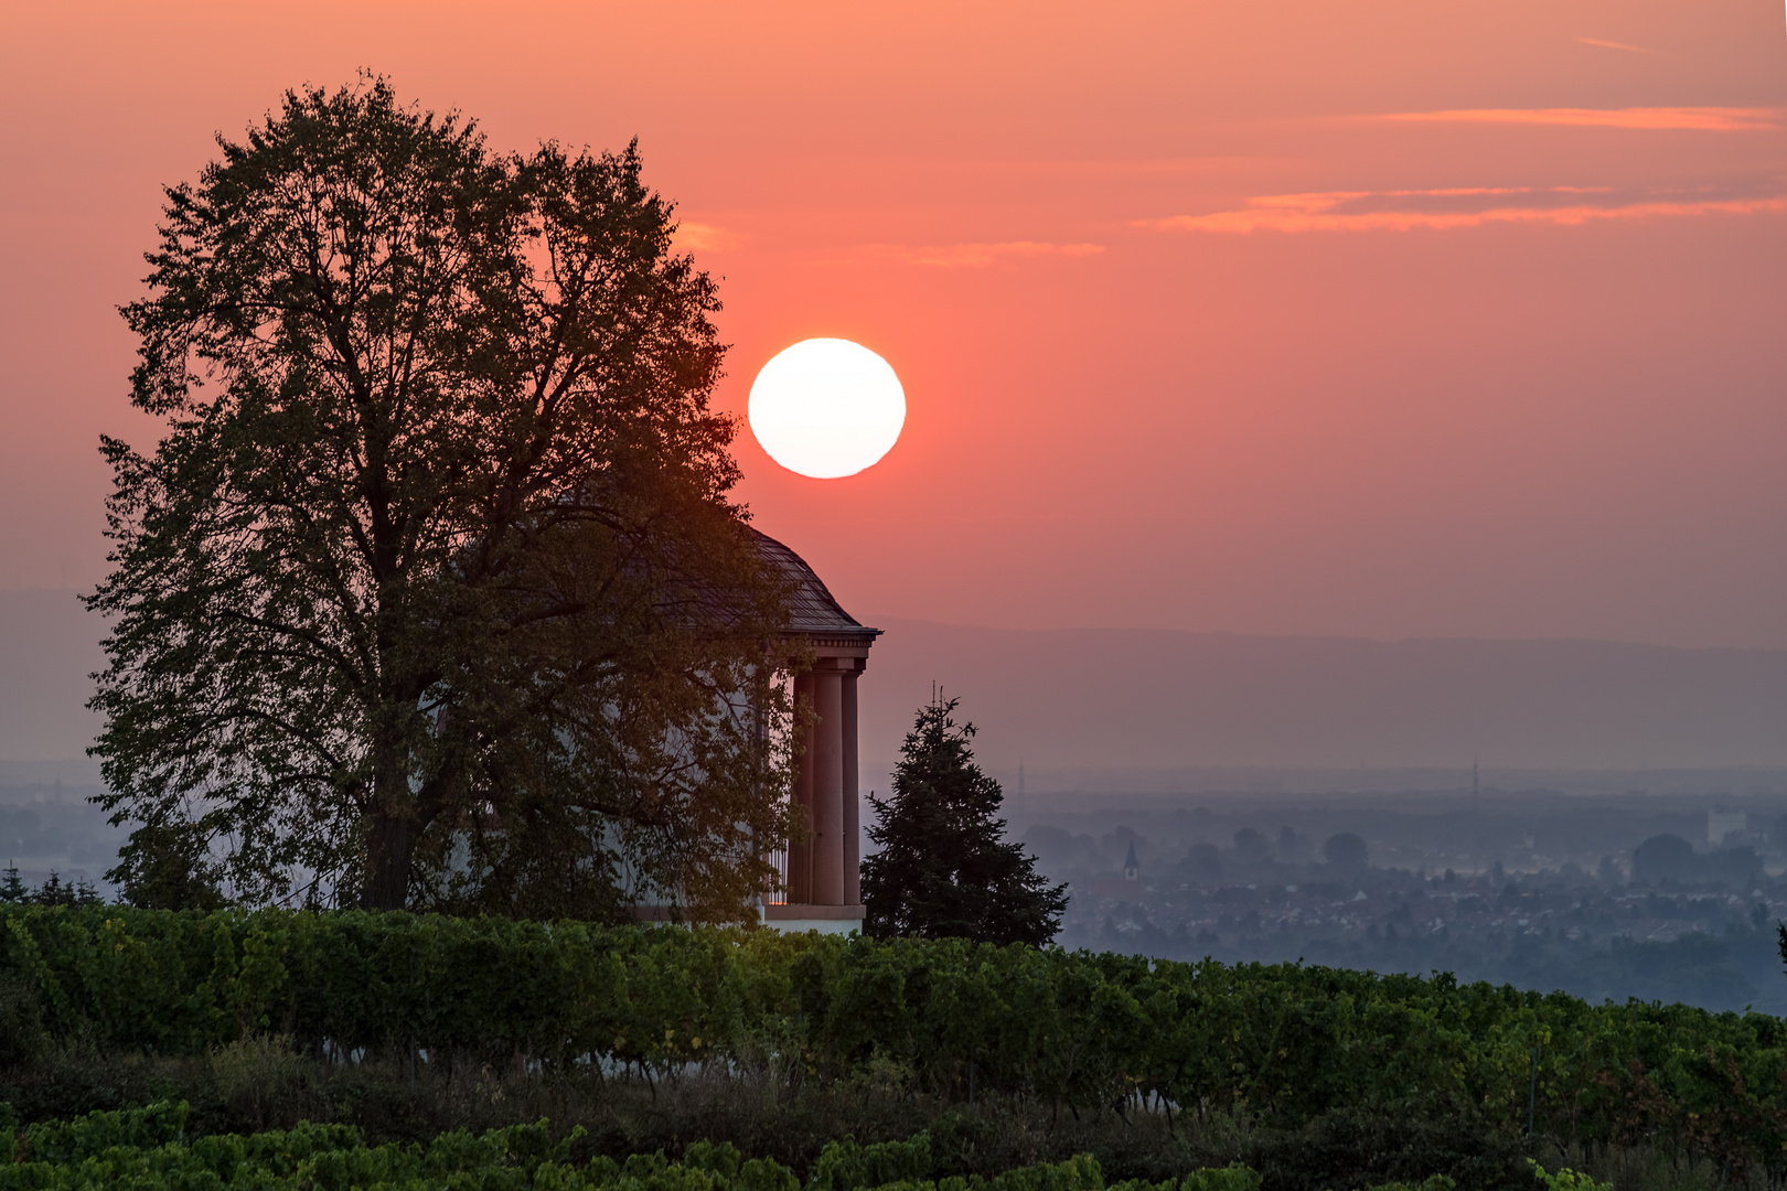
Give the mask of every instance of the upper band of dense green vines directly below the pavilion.
M 822 1084 L 897 1064 L 944 1102 L 1004 1096 L 1051 1118 L 1147 1116 L 1170 1132 L 1242 1114 L 1297 1129 L 1362 1105 L 1442 1104 L 1489 1134 L 1531 1123 L 1558 1143 L 1669 1146 L 1732 1177 L 1787 1173 L 1778 1018 L 1444 975 L 118 907 L 7 909 L 0 975 L 30 993 L 45 1034 L 95 1052 L 204 1055 L 279 1037 L 320 1062 L 497 1064 L 654 1091 L 695 1071 Z

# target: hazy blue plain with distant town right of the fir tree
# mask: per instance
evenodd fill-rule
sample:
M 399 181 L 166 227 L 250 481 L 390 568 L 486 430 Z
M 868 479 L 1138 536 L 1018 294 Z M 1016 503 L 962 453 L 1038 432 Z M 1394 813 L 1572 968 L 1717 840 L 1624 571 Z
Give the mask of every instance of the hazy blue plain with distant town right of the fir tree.
M 1069 948 L 1787 1012 L 1778 795 L 1106 796 L 1013 832 L 1070 886 Z

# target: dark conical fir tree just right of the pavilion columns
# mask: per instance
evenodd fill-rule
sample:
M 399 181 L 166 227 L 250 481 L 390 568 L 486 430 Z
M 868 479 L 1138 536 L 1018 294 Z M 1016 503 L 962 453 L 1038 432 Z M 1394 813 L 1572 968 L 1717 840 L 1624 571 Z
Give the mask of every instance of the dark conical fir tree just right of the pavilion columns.
M 958 702 L 919 709 L 892 796 L 868 796 L 879 852 L 863 861 L 863 929 L 1042 946 L 1061 929 L 1067 886 L 1049 886 L 1036 857 L 1003 837 L 1004 791 L 974 764 L 974 725 L 951 718 Z

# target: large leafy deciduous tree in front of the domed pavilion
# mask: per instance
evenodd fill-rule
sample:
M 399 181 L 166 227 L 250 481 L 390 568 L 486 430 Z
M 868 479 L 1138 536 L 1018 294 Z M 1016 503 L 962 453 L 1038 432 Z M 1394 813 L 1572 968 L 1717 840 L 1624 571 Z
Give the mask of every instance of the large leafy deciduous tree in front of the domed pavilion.
M 163 436 L 102 441 L 113 879 L 172 839 L 245 902 L 742 914 L 786 591 L 636 150 L 497 154 L 379 79 L 218 145 L 123 309 Z

